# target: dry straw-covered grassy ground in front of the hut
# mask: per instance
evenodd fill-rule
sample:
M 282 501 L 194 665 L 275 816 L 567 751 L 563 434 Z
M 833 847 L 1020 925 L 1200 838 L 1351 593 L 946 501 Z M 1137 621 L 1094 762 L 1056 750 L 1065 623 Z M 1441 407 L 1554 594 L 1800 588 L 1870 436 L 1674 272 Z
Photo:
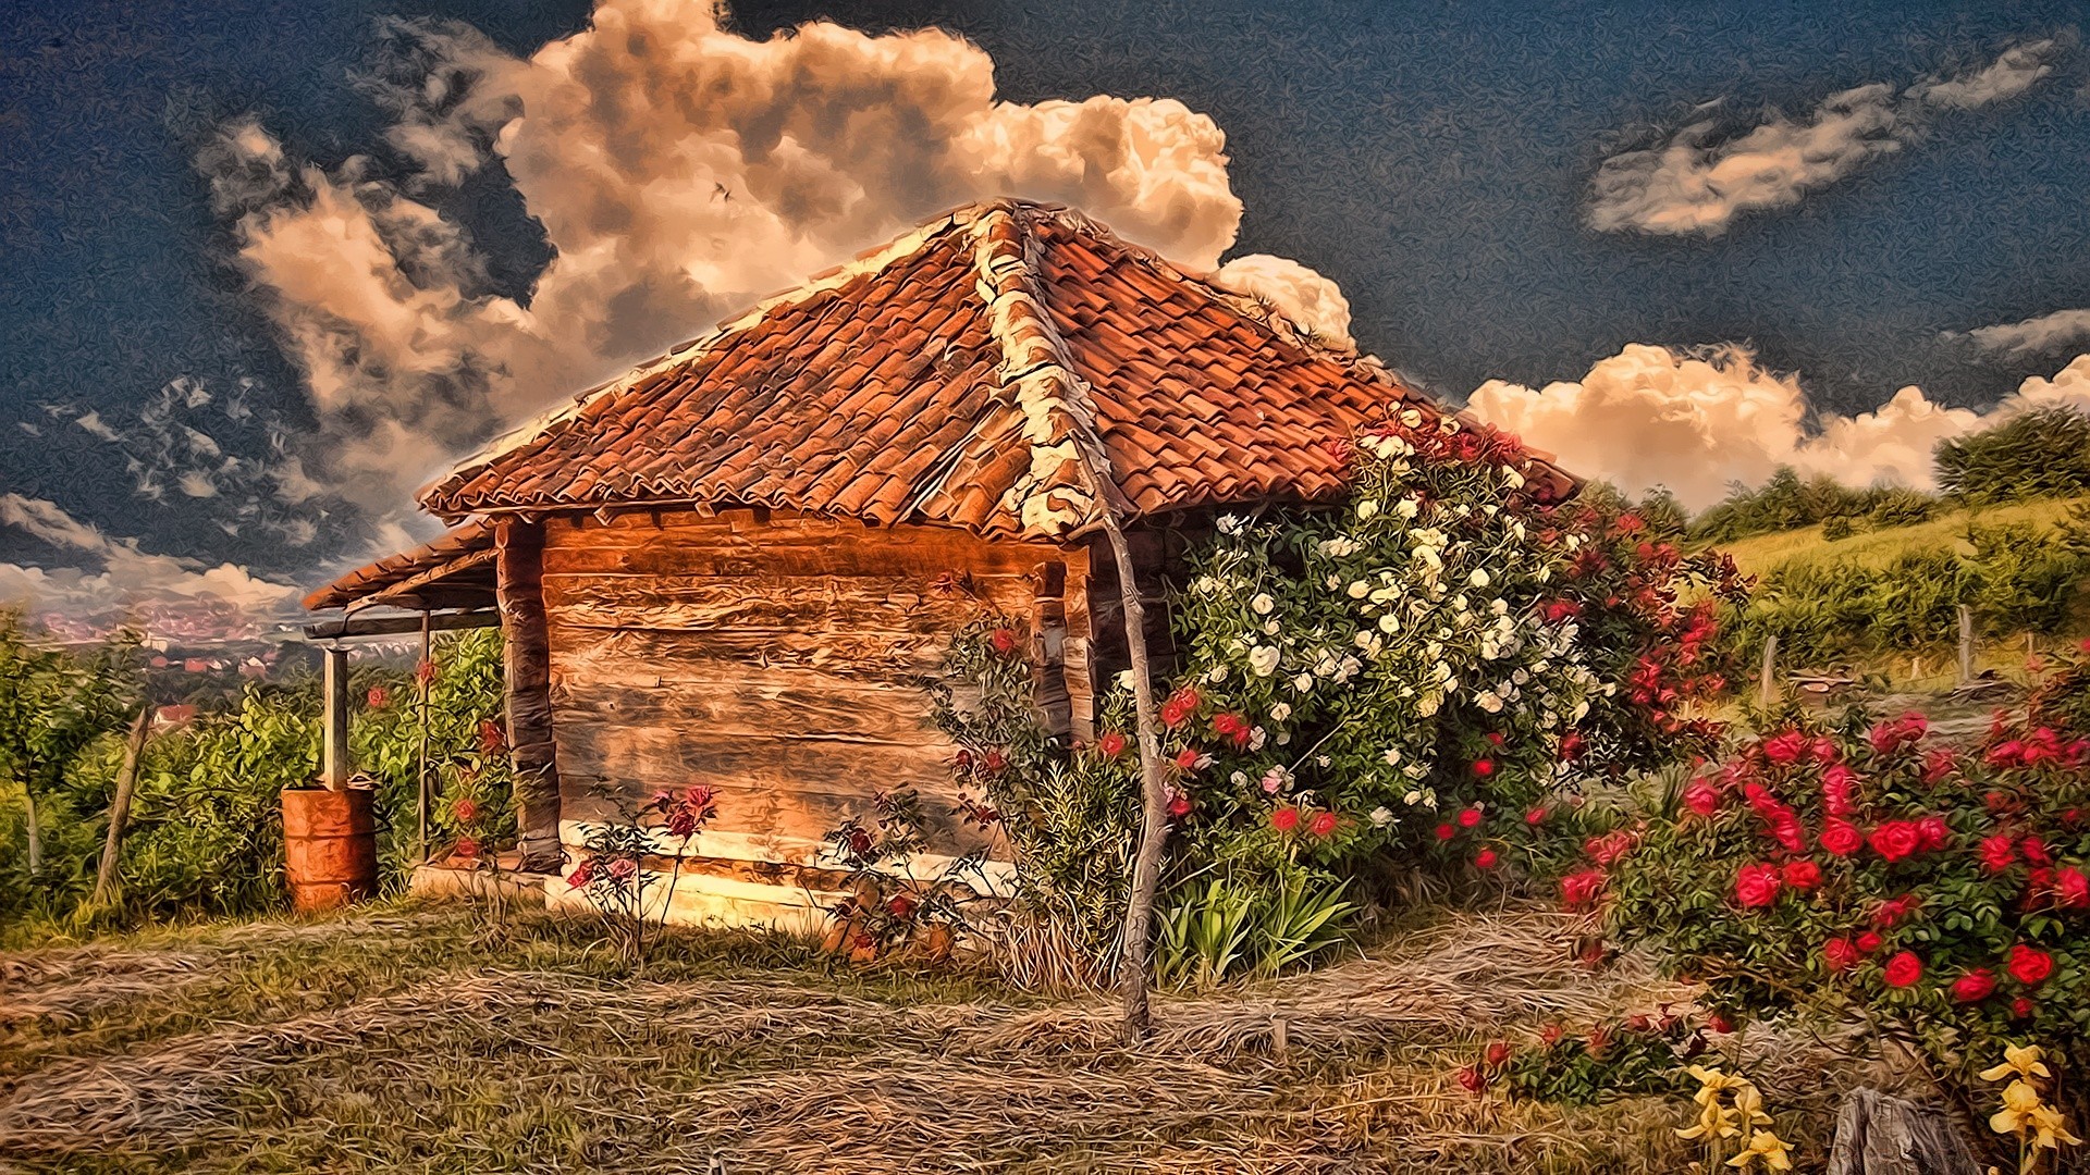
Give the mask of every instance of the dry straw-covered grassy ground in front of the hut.
M 1099 997 L 692 932 L 380 905 L 0 960 L 0 1171 L 1678 1171 L 1682 1100 L 1476 1098 L 1455 1070 L 1674 999 L 1576 926 L 1442 914 L 1313 974 Z M 1779 1083 L 1779 1058 L 1754 1060 Z M 1795 1089 L 1818 1068 L 1793 1073 Z

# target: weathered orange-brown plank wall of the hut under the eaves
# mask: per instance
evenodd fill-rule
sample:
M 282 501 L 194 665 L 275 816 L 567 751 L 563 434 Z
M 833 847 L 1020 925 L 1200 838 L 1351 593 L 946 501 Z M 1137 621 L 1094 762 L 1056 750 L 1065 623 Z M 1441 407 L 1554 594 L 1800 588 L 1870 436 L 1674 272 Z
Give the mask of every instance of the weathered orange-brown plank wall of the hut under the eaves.
M 562 817 L 604 820 L 612 797 L 700 782 L 719 792 L 700 851 L 811 861 L 842 815 L 911 786 L 936 820 L 932 851 L 963 853 L 980 838 L 949 817 L 955 746 L 928 721 L 922 677 L 986 613 L 1032 617 L 1037 648 L 1064 659 L 1083 608 L 1060 600 L 1085 600 L 1085 573 L 1081 550 L 934 527 L 765 510 L 552 519 L 541 583 Z M 1064 725 L 1058 661 L 1049 677 L 1041 698 Z

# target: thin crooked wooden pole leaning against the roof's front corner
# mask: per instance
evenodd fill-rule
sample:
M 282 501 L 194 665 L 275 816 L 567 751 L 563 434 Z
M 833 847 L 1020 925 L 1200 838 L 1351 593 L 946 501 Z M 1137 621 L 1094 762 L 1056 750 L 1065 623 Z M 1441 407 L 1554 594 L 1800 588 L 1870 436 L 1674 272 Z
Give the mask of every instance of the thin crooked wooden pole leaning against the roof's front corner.
M 1162 882 L 1162 849 L 1168 845 L 1168 774 L 1162 765 L 1162 723 L 1154 705 L 1154 675 L 1147 667 L 1147 610 L 1139 600 L 1133 548 L 1124 542 L 1116 510 L 1104 508 L 1104 535 L 1118 560 L 1118 596 L 1124 600 L 1124 648 L 1133 671 L 1133 705 L 1139 725 L 1139 851 L 1133 855 L 1133 891 L 1124 901 L 1124 960 L 1118 976 L 1124 991 L 1124 1039 L 1137 1043 L 1154 1027 L 1147 1008 L 1147 947 L 1154 941 L 1154 895 Z

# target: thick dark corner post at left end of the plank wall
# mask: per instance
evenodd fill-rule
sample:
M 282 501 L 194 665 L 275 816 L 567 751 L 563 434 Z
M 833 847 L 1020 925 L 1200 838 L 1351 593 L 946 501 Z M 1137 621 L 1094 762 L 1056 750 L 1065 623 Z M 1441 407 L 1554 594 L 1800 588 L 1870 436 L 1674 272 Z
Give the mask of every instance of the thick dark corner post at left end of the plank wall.
M 514 767 L 522 872 L 558 872 L 558 763 L 552 746 L 552 646 L 543 615 L 543 525 L 502 519 L 493 531 L 493 550 L 508 671 L 508 761 Z

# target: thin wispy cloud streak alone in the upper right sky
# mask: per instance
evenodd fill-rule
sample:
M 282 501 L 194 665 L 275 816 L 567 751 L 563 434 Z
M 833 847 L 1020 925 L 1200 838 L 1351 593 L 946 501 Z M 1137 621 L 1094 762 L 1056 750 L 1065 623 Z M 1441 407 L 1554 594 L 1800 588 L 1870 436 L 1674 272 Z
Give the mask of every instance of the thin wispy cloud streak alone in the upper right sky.
M 1739 132 L 1699 119 L 1651 146 L 1605 159 L 1590 190 L 1599 232 L 1718 236 L 1747 211 L 1799 203 L 1814 188 L 1914 142 L 1937 109 L 1975 109 L 2029 90 L 2052 71 L 2057 40 L 2013 46 L 1979 69 L 1900 90 L 1885 82 L 1822 98 L 1804 117 L 1772 111 Z M 1703 109 L 1703 107 L 1701 107 Z

